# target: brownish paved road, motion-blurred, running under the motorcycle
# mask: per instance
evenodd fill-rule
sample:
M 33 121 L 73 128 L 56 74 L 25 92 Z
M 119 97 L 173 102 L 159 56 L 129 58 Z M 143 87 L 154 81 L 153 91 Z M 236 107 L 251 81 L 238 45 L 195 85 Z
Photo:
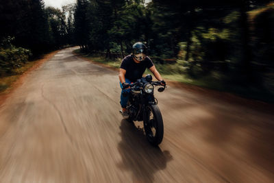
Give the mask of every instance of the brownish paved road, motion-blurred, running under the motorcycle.
M 170 86 L 164 139 L 119 114 L 116 71 L 63 49 L 0 108 L 0 182 L 274 182 L 273 113 Z

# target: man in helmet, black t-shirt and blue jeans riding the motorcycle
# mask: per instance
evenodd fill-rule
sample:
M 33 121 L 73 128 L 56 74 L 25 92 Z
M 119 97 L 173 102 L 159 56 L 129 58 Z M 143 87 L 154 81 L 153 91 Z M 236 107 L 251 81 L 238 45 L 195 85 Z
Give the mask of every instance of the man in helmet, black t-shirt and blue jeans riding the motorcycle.
M 132 46 L 132 54 L 123 58 L 119 72 L 120 86 L 122 88 L 120 101 L 122 110 L 120 110 L 120 113 L 124 118 L 129 116 L 126 110 L 129 96 L 123 94 L 127 92 L 129 84 L 136 82 L 142 77 L 142 74 L 145 73 L 145 69 L 149 69 L 163 86 L 166 85 L 166 82 L 162 79 L 152 60 L 147 56 L 147 47 L 145 44 L 136 42 Z

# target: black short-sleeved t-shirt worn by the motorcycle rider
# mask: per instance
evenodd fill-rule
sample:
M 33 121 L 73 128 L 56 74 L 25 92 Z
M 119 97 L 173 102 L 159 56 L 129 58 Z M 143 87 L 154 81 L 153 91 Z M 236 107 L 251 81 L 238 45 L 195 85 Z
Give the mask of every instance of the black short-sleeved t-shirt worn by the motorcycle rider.
M 149 57 L 146 57 L 144 61 L 137 64 L 134 62 L 132 55 L 129 55 L 123 59 L 120 68 L 127 71 L 125 78 L 131 82 L 136 82 L 142 77 L 142 74 L 145 73 L 145 69 L 149 69 L 151 66 L 153 66 L 153 62 Z

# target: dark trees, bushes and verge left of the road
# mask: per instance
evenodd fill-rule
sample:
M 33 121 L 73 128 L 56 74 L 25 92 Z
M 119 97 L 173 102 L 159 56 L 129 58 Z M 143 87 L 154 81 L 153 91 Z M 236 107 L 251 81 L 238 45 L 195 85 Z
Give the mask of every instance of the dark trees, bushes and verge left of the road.
M 73 45 L 73 12 L 42 0 L 1 1 L 0 93 L 45 53 Z

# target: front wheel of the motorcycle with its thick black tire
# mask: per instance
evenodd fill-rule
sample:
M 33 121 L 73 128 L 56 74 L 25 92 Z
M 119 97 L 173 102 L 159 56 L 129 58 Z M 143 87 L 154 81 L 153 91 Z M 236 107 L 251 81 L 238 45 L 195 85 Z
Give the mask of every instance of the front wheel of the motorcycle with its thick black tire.
M 157 105 L 147 106 L 145 111 L 144 128 L 147 140 L 151 145 L 157 146 L 162 143 L 164 136 L 162 114 Z

